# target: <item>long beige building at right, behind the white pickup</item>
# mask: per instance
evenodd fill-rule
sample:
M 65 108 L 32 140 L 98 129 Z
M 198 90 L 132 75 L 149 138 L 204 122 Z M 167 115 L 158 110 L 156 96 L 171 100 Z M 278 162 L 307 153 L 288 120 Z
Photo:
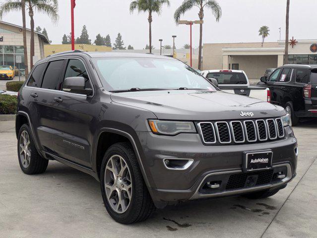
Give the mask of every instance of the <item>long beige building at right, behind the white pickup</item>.
M 290 41 L 290 43 L 292 43 Z M 239 69 L 259 79 L 267 68 L 283 65 L 285 41 L 203 45 L 203 70 Z M 317 40 L 294 40 L 289 45 L 290 64 L 317 64 Z

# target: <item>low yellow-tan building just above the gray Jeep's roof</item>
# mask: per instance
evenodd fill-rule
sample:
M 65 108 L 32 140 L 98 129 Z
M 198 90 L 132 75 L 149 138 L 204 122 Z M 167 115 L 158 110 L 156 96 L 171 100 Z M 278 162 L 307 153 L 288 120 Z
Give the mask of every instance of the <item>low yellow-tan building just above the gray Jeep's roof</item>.
M 112 51 L 111 47 L 107 46 L 95 46 L 95 45 L 86 45 L 86 44 L 75 44 L 75 50 L 82 50 L 85 52 L 110 52 Z M 70 44 L 60 44 L 60 45 L 44 45 L 44 55 L 45 57 L 53 55 L 56 53 L 61 53 L 64 51 L 71 51 Z

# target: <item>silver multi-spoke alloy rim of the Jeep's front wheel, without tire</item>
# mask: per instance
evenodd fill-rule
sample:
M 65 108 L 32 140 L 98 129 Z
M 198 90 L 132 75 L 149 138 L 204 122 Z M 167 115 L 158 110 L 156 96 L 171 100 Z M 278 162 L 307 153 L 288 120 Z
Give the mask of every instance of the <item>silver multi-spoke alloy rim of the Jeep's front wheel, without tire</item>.
M 120 155 L 113 155 L 105 168 L 105 192 L 111 208 L 117 213 L 127 211 L 132 196 L 132 180 L 127 162 Z

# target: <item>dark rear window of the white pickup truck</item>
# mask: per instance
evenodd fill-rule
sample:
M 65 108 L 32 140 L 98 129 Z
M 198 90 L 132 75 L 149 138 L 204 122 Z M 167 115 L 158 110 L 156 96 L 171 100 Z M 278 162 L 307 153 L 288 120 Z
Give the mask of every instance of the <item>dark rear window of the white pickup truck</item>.
M 247 84 L 244 73 L 238 72 L 212 72 L 207 74 L 207 78 L 215 78 L 218 84 Z

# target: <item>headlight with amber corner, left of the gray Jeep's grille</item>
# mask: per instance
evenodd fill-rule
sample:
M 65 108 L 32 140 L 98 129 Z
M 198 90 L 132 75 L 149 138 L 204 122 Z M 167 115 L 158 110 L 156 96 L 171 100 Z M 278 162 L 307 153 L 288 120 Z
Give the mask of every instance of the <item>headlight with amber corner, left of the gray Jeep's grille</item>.
M 155 134 L 196 133 L 195 126 L 190 121 L 149 120 L 148 122 L 152 132 Z

